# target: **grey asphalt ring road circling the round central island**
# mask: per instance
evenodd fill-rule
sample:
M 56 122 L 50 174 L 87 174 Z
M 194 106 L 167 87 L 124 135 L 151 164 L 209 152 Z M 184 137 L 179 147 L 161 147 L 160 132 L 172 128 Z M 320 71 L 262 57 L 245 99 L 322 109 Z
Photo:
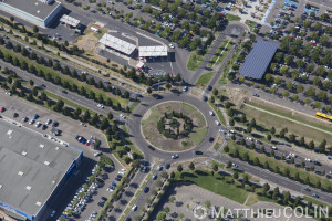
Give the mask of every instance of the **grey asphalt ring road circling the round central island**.
M 144 124 L 144 120 L 146 118 L 146 114 L 148 114 L 149 109 L 152 109 L 155 106 L 165 104 L 165 103 L 186 103 L 189 106 L 193 106 L 197 112 L 199 112 L 205 119 L 206 124 L 206 134 L 203 137 L 201 141 L 196 143 L 197 145 L 193 145 L 191 147 L 185 148 L 183 150 L 164 150 L 159 147 L 157 147 L 155 144 L 152 144 L 149 140 L 145 138 L 145 134 L 143 133 L 142 123 Z M 127 119 L 127 128 L 129 134 L 132 135 L 131 140 L 139 147 L 141 151 L 144 154 L 144 158 L 147 161 L 153 161 L 153 159 L 160 159 L 160 160 L 167 160 L 172 159 L 172 155 L 175 152 L 179 152 L 178 160 L 186 160 L 186 159 L 193 159 L 195 157 L 196 151 L 201 151 L 204 155 L 201 157 L 209 156 L 212 151 L 210 151 L 210 148 L 214 147 L 214 143 L 209 141 L 209 139 L 212 137 L 215 140 L 219 137 L 218 129 L 220 126 L 217 126 L 215 124 L 216 116 L 210 116 L 209 110 L 212 110 L 210 106 L 194 96 L 187 95 L 187 94 L 174 94 L 174 93 L 164 93 L 162 99 L 156 99 L 152 96 L 146 96 L 141 99 L 139 105 L 133 110 L 132 117 Z M 155 122 L 157 124 L 159 118 L 155 118 Z M 222 127 L 222 126 L 221 126 Z M 156 128 L 157 130 L 157 128 Z M 195 127 L 194 127 L 195 130 Z M 194 134 L 193 134 L 194 135 Z M 195 133 L 196 135 L 196 133 Z M 163 136 L 163 135 L 158 135 Z M 196 139 L 196 137 L 195 137 Z M 209 154 L 208 154 L 209 152 Z M 174 160 L 174 159 L 173 159 Z

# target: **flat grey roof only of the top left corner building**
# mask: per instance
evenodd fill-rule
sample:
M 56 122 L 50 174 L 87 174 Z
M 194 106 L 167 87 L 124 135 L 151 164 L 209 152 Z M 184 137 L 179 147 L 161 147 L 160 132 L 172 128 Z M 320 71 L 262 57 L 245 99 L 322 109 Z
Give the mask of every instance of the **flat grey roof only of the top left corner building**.
M 1 0 L 0 3 L 11 6 L 42 20 L 45 20 L 61 4 L 59 1 L 48 4 L 39 0 Z

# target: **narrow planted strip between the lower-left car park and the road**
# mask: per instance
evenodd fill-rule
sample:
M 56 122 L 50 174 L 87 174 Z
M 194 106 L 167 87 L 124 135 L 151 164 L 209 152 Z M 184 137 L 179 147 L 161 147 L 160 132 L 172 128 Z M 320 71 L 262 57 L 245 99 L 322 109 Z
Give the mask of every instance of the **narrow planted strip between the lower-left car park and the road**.
M 127 183 L 129 183 L 133 175 L 136 171 L 137 171 L 137 169 L 134 168 L 134 167 L 132 167 L 131 169 L 128 169 L 128 171 L 123 176 L 122 180 L 120 181 L 120 183 L 117 185 L 117 187 L 115 188 L 115 190 L 113 191 L 113 193 L 111 194 L 111 197 L 105 202 L 104 207 L 102 208 L 102 210 L 100 211 L 100 213 L 97 214 L 97 217 L 95 218 L 95 220 L 102 220 L 102 219 L 104 219 L 105 215 L 107 214 L 108 210 L 113 209 L 113 202 L 117 201 L 121 198 L 122 190 L 127 186 Z

